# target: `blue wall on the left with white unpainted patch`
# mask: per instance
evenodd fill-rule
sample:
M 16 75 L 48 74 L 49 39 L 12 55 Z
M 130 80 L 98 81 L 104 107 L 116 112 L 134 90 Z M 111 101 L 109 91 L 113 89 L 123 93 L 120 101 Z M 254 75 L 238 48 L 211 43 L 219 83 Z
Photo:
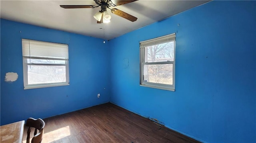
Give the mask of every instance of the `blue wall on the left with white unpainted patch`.
M 70 85 L 24 90 L 22 38 L 68 44 Z M 102 41 L 1 19 L 1 125 L 109 102 L 109 49 Z M 18 80 L 5 82 L 6 72 L 17 72 Z

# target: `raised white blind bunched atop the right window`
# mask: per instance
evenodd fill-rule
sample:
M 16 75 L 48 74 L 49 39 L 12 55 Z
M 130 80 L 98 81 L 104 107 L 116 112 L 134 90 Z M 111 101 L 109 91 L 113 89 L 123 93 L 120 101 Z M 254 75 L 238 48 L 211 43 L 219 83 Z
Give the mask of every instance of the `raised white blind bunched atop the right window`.
M 166 35 L 166 36 L 162 36 L 162 37 L 157 37 L 157 38 L 150 39 L 150 40 L 146 40 L 146 41 L 141 41 L 140 48 L 157 45 L 160 43 L 166 43 L 168 41 L 175 41 L 175 33 Z

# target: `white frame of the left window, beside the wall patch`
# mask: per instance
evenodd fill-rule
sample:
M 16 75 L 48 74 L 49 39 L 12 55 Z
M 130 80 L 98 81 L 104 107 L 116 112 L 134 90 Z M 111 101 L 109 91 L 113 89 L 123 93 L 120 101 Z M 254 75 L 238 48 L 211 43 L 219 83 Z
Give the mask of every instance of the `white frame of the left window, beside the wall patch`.
M 33 89 L 33 88 L 45 88 L 45 87 L 54 87 L 54 86 L 66 86 L 69 85 L 69 62 L 68 62 L 68 55 L 66 55 L 65 58 L 53 58 L 53 57 L 40 57 L 40 56 L 28 56 L 24 52 L 24 43 L 23 42 L 37 42 L 37 43 L 48 43 L 49 45 L 53 46 L 54 45 L 64 45 L 65 47 L 68 45 L 67 44 L 60 44 L 60 43 L 51 43 L 51 42 L 44 42 L 44 41 L 35 41 L 35 40 L 30 40 L 30 39 L 22 39 L 22 57 L 23 57 L 23 81 L 24 81 L 24 89 Z M 29 47 L 30 50 L 30 47 Z M 30 52 L 30 51 L 29 51 Z M 67 53 L 68 54 L 68 53 Z M 65 64 L 52 64 L 52 63 L 28 63 L 28 59 L 42 59 L 42 60 L 61 60 L 65 61 Z M 38 66 L 65 66 L 66 67 L 66 82 L 55 82 L 55 83 L 45 83 L 45 84 L 28 84 L 28 66 L 29 65 L 38 65 Z

